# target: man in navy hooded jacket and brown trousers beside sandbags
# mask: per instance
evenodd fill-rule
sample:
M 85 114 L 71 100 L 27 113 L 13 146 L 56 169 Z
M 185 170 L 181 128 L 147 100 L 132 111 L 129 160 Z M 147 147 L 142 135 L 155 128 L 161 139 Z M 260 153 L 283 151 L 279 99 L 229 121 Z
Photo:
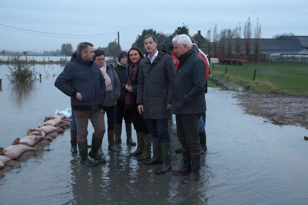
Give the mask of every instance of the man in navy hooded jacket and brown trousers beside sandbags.
M 106 95 L 105 79 L 94 63 L 93 44 L 81 42 L 78 53 L 72 55 L 71 61 L 57 77 L 55 86 L 64 94 L 71 97 L 72 109 L 77 122 L 77 144 L 81 157 L 81 164 L 96 166 L 96 162 L 89 160 L 89 155 L 97 162 L 106 162 L 97 153 L 105 133 L 103 102 Z M 94 127 L 92 147 L 87 153 L 88 121 Z

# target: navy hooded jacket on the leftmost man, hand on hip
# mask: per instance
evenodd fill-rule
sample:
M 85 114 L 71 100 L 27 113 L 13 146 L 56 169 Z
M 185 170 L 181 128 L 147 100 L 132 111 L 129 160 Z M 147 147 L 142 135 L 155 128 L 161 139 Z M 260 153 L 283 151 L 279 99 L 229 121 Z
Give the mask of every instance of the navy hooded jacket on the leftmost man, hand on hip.
M 83 60 L 74 53 L 62 73 L 57 77 L 55 86 L 71 97 L 74 110 L 100 110 L 106 95 L 105 79 L 94 61 Z M 82 100 L 75 96 L 81 93 Z

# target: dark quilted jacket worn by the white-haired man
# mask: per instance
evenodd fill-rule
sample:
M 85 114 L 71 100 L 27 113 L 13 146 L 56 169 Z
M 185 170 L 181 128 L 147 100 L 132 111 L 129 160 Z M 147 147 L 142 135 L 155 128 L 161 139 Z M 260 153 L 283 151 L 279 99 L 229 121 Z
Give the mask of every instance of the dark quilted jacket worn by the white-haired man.
M 180 57 L 173 81 L 172 114 L 204 113 L 205 62 L 193 47 Z

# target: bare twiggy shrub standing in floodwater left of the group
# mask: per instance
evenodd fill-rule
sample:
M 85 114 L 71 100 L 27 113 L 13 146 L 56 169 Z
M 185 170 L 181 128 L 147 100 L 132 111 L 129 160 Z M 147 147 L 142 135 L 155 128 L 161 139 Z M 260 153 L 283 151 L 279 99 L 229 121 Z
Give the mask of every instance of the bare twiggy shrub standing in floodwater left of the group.
M 9 81 L 11 82 L 33 82 L 36 79 L 36 69 L 33 65 L 28 64 L 28 62 L 23 61 L 20 58 L 19 53 L 15 53 L 10 58 L 10 65 L 8 69 L 10 71 L 10 75 L 6 75 Z

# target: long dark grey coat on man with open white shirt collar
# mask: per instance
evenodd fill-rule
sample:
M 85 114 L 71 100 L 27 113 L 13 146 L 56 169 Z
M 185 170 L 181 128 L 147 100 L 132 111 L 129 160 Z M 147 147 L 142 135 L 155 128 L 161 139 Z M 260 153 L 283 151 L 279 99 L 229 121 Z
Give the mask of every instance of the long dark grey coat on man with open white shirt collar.
M 167 104 L 172 104 L 172 81 L 175 67 L 172 57 L 159 50 L 152 62 L 148 54 L 140 62 L 137 104 L 143 104 L 143 117 L 162 119 L 170 116 Z

